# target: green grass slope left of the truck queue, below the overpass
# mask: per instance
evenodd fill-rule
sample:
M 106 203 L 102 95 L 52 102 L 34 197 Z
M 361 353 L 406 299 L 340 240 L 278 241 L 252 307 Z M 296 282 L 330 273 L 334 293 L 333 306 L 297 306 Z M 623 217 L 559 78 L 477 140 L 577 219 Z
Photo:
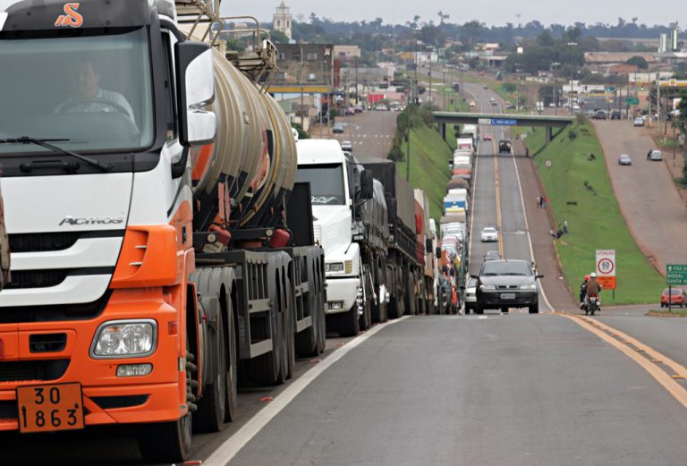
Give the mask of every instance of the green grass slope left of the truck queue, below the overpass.
M 407 144 L 402 143 L 403 160 L 396 170 L 405 177 Z M 429 198 L 429 215 L 439 223 L 446 183 L 451 177 L 448 160 L 453 151 L 437 131 L 427 125 L 411 130 L 411 186 L 424 190 Z

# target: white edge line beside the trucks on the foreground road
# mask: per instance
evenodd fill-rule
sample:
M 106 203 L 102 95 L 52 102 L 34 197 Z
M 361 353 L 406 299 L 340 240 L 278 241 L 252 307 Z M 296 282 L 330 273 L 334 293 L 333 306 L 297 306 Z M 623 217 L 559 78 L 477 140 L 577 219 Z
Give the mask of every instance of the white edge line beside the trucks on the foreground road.
M 284 392 L 275 397 L 274 401 L 258 411 L 255 416 L 246 422 L 242 428 L 237 430 L 233 436 L 230 436 L 222 445 L 219 445 L 215 453 L 212 453 L 203 464 L 205 466 L 225 466 L 229 464 L 229 462 L 233 460 L 233 457 L 241 451 L 243 446 L 248 444 L 254 436 L 257 436 L 260 430 L 267 426 L 270 420 L 274 419 L 298 394 L 325 370 L 329 369 L 336 361 L 341 360 L 353 348 L 365 342 L 370 336 L 377 334 L 381 329 L 394 325 L 396 322 L 401 322 L 409 317 L 410 316 L 404 316 L 403 318 L 390 320 L 386 322 L 386 324 L 373 326 L 364 334 L 353 338 L 350 342 L 345 343 L 344 346 L 332 352 L 325 360 L 319 362 L 318 365 L 313 366 L 312 369 L 309 369 L 301 377 L 294 380 L 290 386 L 284 389 Z

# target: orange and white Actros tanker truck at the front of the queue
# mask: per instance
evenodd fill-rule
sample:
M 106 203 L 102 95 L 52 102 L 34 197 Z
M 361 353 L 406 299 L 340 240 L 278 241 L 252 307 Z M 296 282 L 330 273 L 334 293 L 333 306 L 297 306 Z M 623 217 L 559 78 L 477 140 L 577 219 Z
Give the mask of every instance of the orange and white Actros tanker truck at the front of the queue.
M 282 383 L 325 345 L 309 187 L 256 84 L 276 48 L 256 24 L 225 50 L 218 1 L 0 9 L 0 430 L 128 425 L 181 462 L 239 380 Z

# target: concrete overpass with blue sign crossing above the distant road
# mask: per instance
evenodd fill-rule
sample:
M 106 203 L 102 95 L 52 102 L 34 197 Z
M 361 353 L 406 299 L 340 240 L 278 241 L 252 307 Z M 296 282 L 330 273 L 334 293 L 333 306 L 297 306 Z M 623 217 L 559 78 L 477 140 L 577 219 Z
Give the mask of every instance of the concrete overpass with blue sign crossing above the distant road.
M 547 130 L 547 143 L 554 137 L 554 128 L 564 128 L 575 121 L 574 116 L 539 114 L 476 114 L 462 112 L 432 112 L 439 123 L 441 137 L 446 139 L 446 124 L 485 124 L 490 126 L 541 126 Z

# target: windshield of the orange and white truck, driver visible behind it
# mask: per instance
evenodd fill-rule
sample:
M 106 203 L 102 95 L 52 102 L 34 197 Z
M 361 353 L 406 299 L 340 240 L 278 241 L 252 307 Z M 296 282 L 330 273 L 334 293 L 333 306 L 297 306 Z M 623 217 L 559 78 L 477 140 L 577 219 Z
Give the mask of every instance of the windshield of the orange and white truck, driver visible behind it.
M 0 139 L 68 140 L 74 152 L 147 148 L 153 140 L 146 31 L 0 36 Z M 0 155 L 45 152 L 3 144 Z

